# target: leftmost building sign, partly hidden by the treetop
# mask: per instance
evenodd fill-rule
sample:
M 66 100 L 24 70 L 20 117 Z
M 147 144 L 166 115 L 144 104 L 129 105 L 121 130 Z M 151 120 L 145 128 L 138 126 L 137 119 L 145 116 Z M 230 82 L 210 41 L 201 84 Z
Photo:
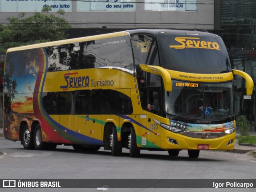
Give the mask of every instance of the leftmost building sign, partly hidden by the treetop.
M 45 6 L 51 6 L 52 11 L 72 11 L 70 0 L 0 0 L 0 12 L 41 12 Z

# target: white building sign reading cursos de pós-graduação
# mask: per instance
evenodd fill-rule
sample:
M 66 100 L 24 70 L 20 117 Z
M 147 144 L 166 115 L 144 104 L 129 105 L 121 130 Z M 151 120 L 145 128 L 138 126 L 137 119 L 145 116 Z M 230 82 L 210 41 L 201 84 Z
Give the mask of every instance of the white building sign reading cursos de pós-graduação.
M 145 11 L 196 11 L 196 1 L 145 0 Z

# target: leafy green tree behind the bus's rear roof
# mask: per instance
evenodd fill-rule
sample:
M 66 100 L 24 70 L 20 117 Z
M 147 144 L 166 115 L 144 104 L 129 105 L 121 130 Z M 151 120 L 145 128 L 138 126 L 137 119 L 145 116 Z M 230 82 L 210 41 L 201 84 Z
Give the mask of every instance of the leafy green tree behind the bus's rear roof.
M 0 25 L 0 54 L 5 54 L 10 47 L 24 46 L 41 42 L 63 40 L 68 37 L 66 31 L 72 26 L 62 17 L 64 10 L 58 10 L 55 16 L 49 14 L 50 6 L 24 18 L 25 13 L 18 17 L 8 17 L 8 25 Z

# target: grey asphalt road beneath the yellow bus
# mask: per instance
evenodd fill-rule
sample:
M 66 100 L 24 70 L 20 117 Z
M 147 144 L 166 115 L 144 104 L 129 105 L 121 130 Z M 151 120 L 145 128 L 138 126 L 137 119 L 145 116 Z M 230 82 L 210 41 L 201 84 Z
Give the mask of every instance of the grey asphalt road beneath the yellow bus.
M 98 152 L 73 150 L 72 146 L 57 146 L 54 151 L 24 150 L 20 142 L 0 137 L 0 179 L 256 179 L 256 158 L 248 154 L 221 151 L 201 151 L 199 158 L 188 157 L 186 150 L 178 157 L 168 152 L 142 150 L 139 158 L 130 158 L 123 149 L 120 157 L 111 156 L 101 148 Z M 101 187 L 101 186 L 99 186 Z M 97 188 L 0 188 L 0 192 L 28 191 L 94 191 Z M 255 191 L 240 188 L 109 188 L 108 192 L 197 192 Z

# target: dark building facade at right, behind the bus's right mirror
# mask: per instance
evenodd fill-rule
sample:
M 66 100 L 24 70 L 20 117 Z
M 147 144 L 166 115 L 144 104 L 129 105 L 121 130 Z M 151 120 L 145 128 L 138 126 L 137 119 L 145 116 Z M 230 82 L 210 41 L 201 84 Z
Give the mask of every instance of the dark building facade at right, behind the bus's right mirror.
M 214 33 L 224 40 L 233 69 L 248 73 L 256 82 L 256 0 L 215 0 Z M 246 83 L 235 76 L 236 115 L 246 115 L 255 130 L 255 90 L 246 99 Z

